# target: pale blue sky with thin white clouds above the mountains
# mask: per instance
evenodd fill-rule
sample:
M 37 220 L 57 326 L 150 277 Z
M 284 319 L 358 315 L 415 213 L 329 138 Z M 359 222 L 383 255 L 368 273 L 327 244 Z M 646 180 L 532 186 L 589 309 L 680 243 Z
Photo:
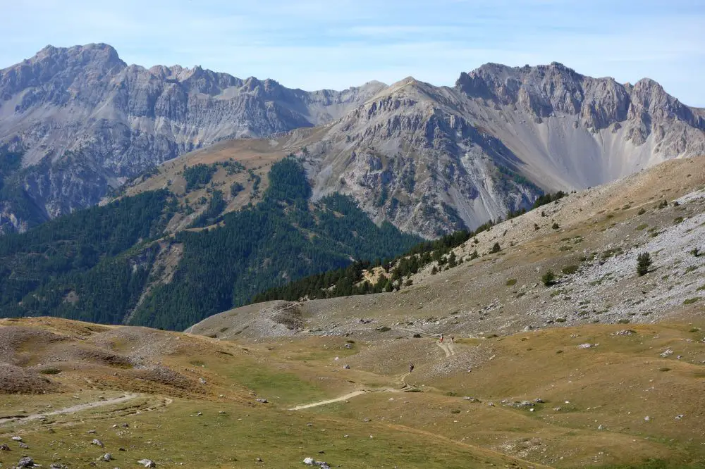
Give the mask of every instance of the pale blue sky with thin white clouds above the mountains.
M 127 63 L 313 90 L 407 76 L 452 86 L 487 62 L 557 61 L 649 77 L 705 107 L 703 0 L 0 0 L 0 11 L 0 68 L 47 44 L 105 42 Z

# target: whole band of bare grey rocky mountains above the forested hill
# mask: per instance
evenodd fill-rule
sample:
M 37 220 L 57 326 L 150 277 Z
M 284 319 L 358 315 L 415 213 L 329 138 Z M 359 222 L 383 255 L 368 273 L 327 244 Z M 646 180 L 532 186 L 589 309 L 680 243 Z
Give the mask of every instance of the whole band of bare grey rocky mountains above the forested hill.
M 105 44 L 0 70 L 0 231 L 97 203 L 171 158 L 223 139 L 323 125 L 314 199 L 350 194 L 376 222 L 435 237 L 705 153 L 704 111 L 652 80 L 621 85 L 558 63 L 487 64 L 455 87 L 407 78 L 304 92 L 200 67 L 126 65 Z

